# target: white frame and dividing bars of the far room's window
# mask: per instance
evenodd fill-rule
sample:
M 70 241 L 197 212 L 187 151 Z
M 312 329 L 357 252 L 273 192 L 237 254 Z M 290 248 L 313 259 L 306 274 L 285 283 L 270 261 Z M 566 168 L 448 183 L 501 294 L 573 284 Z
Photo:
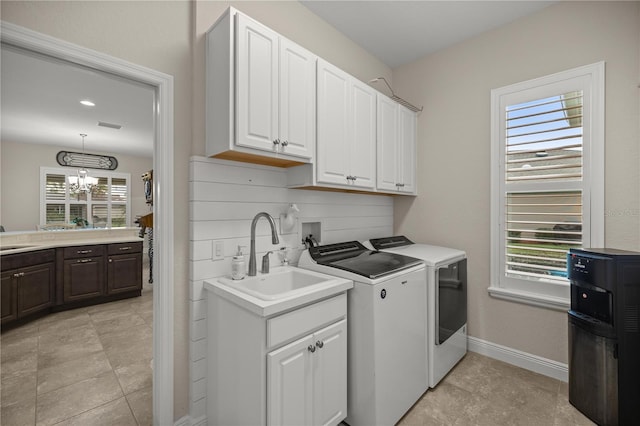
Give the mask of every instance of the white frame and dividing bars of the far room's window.
M 91 214 L 91 208 L 92 206 L 96 205 L 106 205 L 107 206 L 107 224 L 105 226 L 105 229 L 112 229 L 112 228 L 117 228 L 117 229 L 122 229 L 122 228 L 129 228 L 131 227 L 131 173 L 118 173 L 118 172 L 111 172 L 111 171 L 106 171 L 106 170 L 97 170 L 97 169 L 92 169 L 92 171 L 90 172 L 90 174 L 93 177 L 97 177 L 97 178 L 105 178 L 108 179 L 109 185 L 111 185 L 111 182 L 113 179 L 124 179 L 126 181 L 126 193 L 127 193 L 127 199 L 126 201 L 114 201 L 111 199 L 111 196 L 109 195 L 109 199 L 108 200 L 92 200 L 91 195 L 88 194 L 87 195 L 87 199 L 86 200 L 74 200 L 72 198 L 72 192 L 70 191 L 69 188 L 69 176 L 75 176 L 77 175 L 77 169 L 76 168 L 59 168 L 59 167 L 40 167 L 40 226 L 45 226 L 47 225 L 47 205 L 53 205 L 53 204 L 64 204 L 65 206 L 65 224 L 69 224 L 71 217 L 70 217 L 70 208 L 72 204 L 84 204 L 87 206 L 87 218 L 89 217 L 89 215 Z M 51 200 L 48 201 L 47 200 L 47 190 L 46 190 L 46 185 L 47 185 L 47 175 L 64 175 L 65 176 L 65 196 L 64 196 L 64 200 Z M 109 192 L 110 194 L 110 192 Z M 114 227 L 113 226 L 113 218 L 112 218 L 112 206 L 125 206 L 126 212 L 125 212 L 125 225 L 124 226 L 118 226 L 118 227 Z

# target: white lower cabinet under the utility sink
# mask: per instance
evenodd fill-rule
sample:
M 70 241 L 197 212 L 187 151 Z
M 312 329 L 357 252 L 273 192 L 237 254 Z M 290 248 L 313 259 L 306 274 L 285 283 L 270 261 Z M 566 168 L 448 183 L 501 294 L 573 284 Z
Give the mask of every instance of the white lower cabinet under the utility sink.
M 337 425 L 347 415 L 347 296 L 265 317 L 211 293 L 212 425 Z

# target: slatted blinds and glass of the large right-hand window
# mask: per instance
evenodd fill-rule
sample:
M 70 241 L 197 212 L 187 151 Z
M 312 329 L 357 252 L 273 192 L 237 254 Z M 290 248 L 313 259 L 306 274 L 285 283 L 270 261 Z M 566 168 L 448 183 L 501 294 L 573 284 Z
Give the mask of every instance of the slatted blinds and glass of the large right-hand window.
M 505 272 L 563 280 L 566 255 L 582 246 L 582 91 L 506 107 Z M 531 191 L 554 182 L 563 190 Z M 566 185 L 563 185 L 566 184 Z

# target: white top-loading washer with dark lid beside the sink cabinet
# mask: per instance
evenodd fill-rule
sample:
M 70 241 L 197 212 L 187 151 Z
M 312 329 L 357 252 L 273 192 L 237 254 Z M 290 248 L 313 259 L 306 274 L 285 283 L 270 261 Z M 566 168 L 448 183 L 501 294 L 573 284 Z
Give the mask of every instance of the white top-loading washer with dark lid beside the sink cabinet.
M 428 389 L 424 263 L 352 241 L 311 247 L 298 266 L 354 281 L 347 293 L 345 422 L 397 423 Z

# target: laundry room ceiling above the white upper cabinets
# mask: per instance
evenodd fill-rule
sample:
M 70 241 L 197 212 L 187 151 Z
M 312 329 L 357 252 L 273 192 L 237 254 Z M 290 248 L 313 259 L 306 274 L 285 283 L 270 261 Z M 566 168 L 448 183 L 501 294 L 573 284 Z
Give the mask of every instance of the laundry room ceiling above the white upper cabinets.
M 391 68 L 556 3 L 480 0 L 300 2 Z

